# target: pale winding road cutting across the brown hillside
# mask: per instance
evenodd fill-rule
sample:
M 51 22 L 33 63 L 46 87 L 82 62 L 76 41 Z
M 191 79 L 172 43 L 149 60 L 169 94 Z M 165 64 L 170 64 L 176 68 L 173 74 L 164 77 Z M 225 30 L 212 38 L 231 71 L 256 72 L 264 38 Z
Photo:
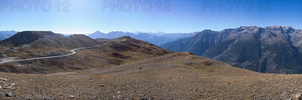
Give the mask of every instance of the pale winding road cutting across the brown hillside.
M 45 58 L 55 58 L 55 57 L 70 56 L 70 55 L 75 54 L 75 50 L 79 50 L 79 49 L 86 49 L 86 48 L 92 48 L 92 47 L 97 47 L 97 46 L 101 46 L 101 45 L 105 45 L 105 44 L 107 44 L 107 43 L 100 44 L 100 45 L 96 45 L 96 46 L 91 46 L 91 47 L 82 47 L 82 48 L 76 48 L 76 49 L 72 49 L 72 50 L 70 50 L 72 53 L 70 53 L 70 54 L 66 54 L 66 55 L 60 55 L 60 56 L 39 57 L 39 58 L 22 59 L 22 60 L 14 60 L 14 59 L 2 59 L 3 61 L 2 61 L 2 62 L 0 62 L 0 64 L 3 64 L 3 63 L 8 63 L 8 62 L 14 62 L 14 61 L 26 61 L 26 60 L 35 60 L 35 59 L 45 59 Z

